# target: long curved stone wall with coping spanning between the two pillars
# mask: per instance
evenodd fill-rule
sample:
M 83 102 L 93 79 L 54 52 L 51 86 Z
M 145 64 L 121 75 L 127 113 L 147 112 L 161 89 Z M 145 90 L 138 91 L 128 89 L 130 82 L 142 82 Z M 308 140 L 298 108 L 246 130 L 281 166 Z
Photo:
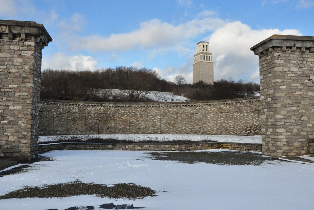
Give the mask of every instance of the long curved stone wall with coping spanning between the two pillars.
M 259 97 L 210 102 L 102 103 L 42 100 L 40 135 L 260 135 Z

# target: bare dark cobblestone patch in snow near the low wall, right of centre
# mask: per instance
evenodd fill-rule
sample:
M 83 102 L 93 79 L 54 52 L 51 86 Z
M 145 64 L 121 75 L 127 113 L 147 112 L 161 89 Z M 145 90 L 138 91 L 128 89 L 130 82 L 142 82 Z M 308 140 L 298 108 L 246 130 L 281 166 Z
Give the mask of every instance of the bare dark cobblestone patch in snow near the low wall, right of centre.
M 170 160 L 183 163 L 212 163 L 218 165 L 261 165 L 271 163 L 271 158 L 249 152 L 147 152 L 154 160 Z M 147 158 L 141 157 L 141 158 Z M 278 163 L 278 162 L 277 162 Z

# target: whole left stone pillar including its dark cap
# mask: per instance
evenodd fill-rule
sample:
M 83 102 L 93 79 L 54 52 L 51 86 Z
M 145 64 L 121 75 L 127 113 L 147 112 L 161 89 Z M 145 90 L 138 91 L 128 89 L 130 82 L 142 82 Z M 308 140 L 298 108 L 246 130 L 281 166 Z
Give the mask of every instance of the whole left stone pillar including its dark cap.
M 49 41 L 42 24 L 0 20 L 0 156 L 38 154 L 41 52 Z

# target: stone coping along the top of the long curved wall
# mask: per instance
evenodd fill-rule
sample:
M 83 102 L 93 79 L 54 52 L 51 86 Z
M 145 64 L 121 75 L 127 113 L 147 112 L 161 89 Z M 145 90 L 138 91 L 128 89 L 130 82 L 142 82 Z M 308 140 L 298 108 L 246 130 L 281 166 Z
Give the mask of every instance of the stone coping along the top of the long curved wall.
M 52 100 L 41 99 L 41 104 L 65 104 L 71 106 L 101 106 L 101 107 L 171 107 L 171 106 L 203 106 L 216 104 L 230 104 L 250 101 L 259 101 L 260 97 L 247 97 L 224 99 L 215 101 L 195 101 L 195 102 L 85 102 L 85 101 L 66 101 L 66 100 Z

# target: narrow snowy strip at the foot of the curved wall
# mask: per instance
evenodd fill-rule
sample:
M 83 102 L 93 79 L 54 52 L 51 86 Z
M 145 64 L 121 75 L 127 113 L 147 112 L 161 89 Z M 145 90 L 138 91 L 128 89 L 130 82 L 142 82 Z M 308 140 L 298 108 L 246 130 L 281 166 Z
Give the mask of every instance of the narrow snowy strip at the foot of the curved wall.
M 39 136 L 39 143 L 47 141 L 69 140 L 72 138 L 87 139 L 114 139 L 119 141 L 217 141 L 217 142 L 239 142 L 239 143 L 262 143 L 261 136 L 247 135 L 192 135 L 192 134 L 101 134 L 101 135 L 46 135 Z

